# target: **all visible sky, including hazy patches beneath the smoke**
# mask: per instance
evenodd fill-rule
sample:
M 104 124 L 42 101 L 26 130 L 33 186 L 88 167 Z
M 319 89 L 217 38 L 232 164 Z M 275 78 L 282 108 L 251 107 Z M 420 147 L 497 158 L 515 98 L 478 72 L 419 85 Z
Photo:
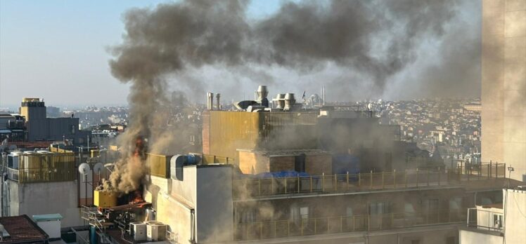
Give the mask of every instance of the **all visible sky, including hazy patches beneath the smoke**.
M 46 104 L 56 106 L 77 106 L 84 104 L 117 105 L 127 103 L 129 88 L 118 82 L 110 74 L 108 60 L 111 56 L 107 52 L 109 46 L 122 42 L 124 24 L 122 13 L 129 8 L 155 7 L 167 1 L 120 0 L 120 1 L 0 1 L 0 107 L 18 107 L 22 97 L 43 97 Z M 275 13 L 281 0 L 251 1 L 248 8 L 248 18 L 264 18 Z M 456 36 L 468 36 L 466 29 L 475 29 L 473 34 L 480 34 L 480 3 L 478 1 L 461 1 L 461 11 L 451 25 L 444 39 L 456 39 Z M 462 27 L 456 27 L 461 25 Z M 456 33 L 458 32 L 458 33 Z M 473 37 L 473 34 L 471 36 Z M 406 99 L 411 97 L 430 96 L 432 93 L 421 94 L 423 83 L 418 79 L 447 73 L 451 67 L 436 64 L 435 58 L 440 55 L 455 57 L 458 51 L 466 50 L 466 46 L 480 43 L 462 43 L 468 39 L 458 39 L 458 46 L 445 47 L 440 41 L 427 40 L 419 43 L 418 59 L 401 74 L 392 77 L 385 91 L 377 97 L 387 99 Z M 451 40 L 449 40 L 451 41 Z M 455 42 L 455 40 L 454 40 Z M 447 50 L 444 50 L 447 49 Z M 446 57 L 447 58 L 447 57 Z M 477 73 L 480 57 L 475 55 L 472 73 Z M 450 60 L 446 60 L 450 63 Z M 464 64 L 451 63 L 457 69 L 466 69 Z M 473 67 L 472 67 L 473 66 Z M 446 69 L 446 70 L 444 70 Z M 458 72 L 458 70 L 456 71 Z M 339 69 L 327 69 L 316 74 L 295 74 L 286 69 L 273 69 L 270 72 L 274 79 L 287 80 L 286 89 L 296 89 L 301 93 L 303 88 L 295 88 L 300 81 L 304 86 L 318 88 L 321 80 L 352 79 L 353 77 Z M 222 76 L 230 79 L 231 86 L 227 90 L 235 90 L 236 83 L 243 83 L 243 79 L 236 77 L 236 72 L 224 72 L 214 67 L 205 67 L 195 72 L 190 79 L 215 79 Z M 455 77 L 456 78 L 456 77 Z M 359 79 L 359 78 L 354 78 Z M 470 76 L 470 83 L 463 83 L 459 89 L 474 89 L 470 95 L 477 95 L 480 81 Z M 280 82 L 280 81 L 277 81 Z M 436 83 L 444 82 L 434 81 Z M 274 81 L 272 81 L 274 83 Z M 330 82 L 328 82 L 330 84 Z M 431 83 L 433 84 L 433 83 Z M 473 85 L 473 88 L 470 84 Z M 250 89 L 243 87 L 246 96 L 251 97 Z M 220 90 L 222 83 L 213 83 L 211 90 Z M 206 88 L 209 89 L 209 88 Z M 274 89 L 274 90 L 272 90 Z M 271 87 L 271 93 L 276 92 Z M 283 89 L 283 88 L 280 88 Z M 360 95 L 366 87 L 359 87 L 359 82 L 349 83 L 344 88 L 345 94 Z M 440 90 L 430 87 L 431 90 Z M 341 88 L 328 88 L 328 93 L 337 93 Z M 429 90 L 429 89 L 428 89 Z M 232 93 L 238 90 L 232 91 Z M 224 99 L 241 99 L 243 97 L 228 97 Z M 373 94 L 373 93 L 371 93 Z M 193 94 L 199 96 L 200 94 Z M 202 97 L 205 97 L 202 95 Z M 363 98 L 363 97 L 360 97 Z M 367 97 L 375 98 L 375 97 Z M 335 99 L 336 100 L 336 99 Z

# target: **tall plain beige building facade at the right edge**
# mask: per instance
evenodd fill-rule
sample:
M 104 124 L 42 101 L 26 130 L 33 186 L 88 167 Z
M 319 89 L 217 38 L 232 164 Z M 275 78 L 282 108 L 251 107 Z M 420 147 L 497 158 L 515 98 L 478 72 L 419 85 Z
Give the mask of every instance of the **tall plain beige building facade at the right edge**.
M 482 1 L 482 161 L 526 181 L 526 0 Z

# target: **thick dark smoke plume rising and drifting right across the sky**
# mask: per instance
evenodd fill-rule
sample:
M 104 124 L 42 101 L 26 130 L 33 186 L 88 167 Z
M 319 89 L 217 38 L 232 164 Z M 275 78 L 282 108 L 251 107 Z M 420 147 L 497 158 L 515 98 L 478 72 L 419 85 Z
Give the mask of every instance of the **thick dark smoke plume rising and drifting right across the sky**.
M 285 2 L 268 18 L 251 20 L 248 4 L 193 0 L 124 14 L 123 41 L 112 48 L 110 60 L 113 76 L 131 83 L 131 123 L 122 148 L 129 148 L 138 135 L 153 143 L 155 137 L 165 137 L 162 130 L 153 130 L 153 123 L 159 121 L 160 104 L 169 102 L 167 76 L 192 88 L 202 85 L 177 79 L 177 74 L 204 66 L 234 71 L 284 67 L 308 74 L 330 64 L 383 90 L 392 76 L 417 60 L 415 47 L 424 39 L 440 39 L 458 12 L 456 0 L 300 1 Z M 124 157 L 130 154 L 124 151 Z

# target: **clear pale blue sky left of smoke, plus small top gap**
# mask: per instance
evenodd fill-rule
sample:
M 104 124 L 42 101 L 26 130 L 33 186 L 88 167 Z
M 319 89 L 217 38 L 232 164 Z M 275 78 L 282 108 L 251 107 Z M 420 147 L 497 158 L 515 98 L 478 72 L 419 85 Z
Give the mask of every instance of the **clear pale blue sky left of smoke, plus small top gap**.
M 0 107 L 22 97 L 46 104 L 126 104 L 128 87 L 111 76 L 108 46 L 120 43 L 122 13 L 160 0 L 1 0 Z M 253 1 L 250 15 L 276 11 L 280 0 Z

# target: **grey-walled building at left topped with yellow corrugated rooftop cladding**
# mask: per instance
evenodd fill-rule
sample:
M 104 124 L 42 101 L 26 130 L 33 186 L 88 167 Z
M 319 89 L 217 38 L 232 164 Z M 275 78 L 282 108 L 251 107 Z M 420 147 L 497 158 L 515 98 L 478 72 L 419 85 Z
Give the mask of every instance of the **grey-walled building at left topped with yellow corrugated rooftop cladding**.
M 60 214 L 63 226 L 82 224 L 75 154 L 13 151 L 0 162 L 1 216 Z

